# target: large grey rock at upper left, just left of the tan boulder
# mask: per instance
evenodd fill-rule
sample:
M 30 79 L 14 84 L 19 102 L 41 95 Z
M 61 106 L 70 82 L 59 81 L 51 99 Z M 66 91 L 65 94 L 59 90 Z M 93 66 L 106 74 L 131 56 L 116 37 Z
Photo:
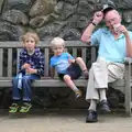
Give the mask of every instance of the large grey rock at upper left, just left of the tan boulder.
M 29 23 L 28 16 L 20 10 L 8 10 L 2 14 L 1 19 L 13 24 L 26 25 Z

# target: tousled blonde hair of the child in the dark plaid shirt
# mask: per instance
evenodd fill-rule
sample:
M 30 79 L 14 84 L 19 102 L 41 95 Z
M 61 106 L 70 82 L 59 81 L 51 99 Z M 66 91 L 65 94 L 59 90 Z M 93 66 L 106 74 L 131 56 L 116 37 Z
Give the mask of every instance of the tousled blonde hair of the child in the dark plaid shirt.
M 35 41 L 35 44 L 38 43 L 40 37 L 35 32 L 26 32 L 23 36 L 22 36 L 22 42 L 24 43 L 25 40 L 28 40 L 29 37 L 33 37 Z

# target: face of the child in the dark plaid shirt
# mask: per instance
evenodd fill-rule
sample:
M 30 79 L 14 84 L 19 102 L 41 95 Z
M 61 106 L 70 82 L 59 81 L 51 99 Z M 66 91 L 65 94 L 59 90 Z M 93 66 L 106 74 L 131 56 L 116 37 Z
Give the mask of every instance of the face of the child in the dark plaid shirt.
M 24 41 L 24 46 L 28 51 L 33 51 L 35 48 L 35 40 L 33 37 L 28 37 Z

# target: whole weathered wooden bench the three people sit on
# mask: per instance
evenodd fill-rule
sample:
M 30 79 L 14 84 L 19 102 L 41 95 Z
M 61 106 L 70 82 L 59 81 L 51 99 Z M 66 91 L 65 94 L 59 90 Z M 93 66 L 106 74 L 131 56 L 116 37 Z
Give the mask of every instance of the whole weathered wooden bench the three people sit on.
M 40 42 L 37 45 L 45 56 L 45 73 L 44 77 L 41 80 L 35 80 L 32 87 L 67 87 L 63 81 L 57 79 L 50 78 L 50 58 L 52 52 L 50 50 L 50 42 Z M 12 87 L 12 76 L 16 75 L 18 72 L 18 62 L 19 54 L 22 48 L 21 42 L 0 42 L 0 88 L 10 88 Z M 96 61 L 97 56 L 97 46 L 88 46 L 81 41 L 66 41 L 66 51 L 68 51 L 74 57 L 81 56 L 82 59 L 88 63 L 88 56 L 92 62 Z M 128 116 L 131 116 L 131 64 L 132 59 L 125 59 L 125 76 L 124 79 L 117 80 L 112 82 L 112 87 L 119 89 L 125 95 L 125 112 Z M 77 80 L 74 80 L 77 87 L 87 87 L 87 80 L 80 77 Z

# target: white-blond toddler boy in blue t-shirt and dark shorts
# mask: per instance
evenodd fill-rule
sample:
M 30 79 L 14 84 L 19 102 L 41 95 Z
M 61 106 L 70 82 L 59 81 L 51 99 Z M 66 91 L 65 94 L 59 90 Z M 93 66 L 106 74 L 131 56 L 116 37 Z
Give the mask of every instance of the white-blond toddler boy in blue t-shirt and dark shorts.
M 73 79 L 78 79 L 81 72 L 88 79 L 88 69 L 82 58 L 74 58 L 69 53 L 65 53 L 65 43 L 61 37 L 54 37 L 51 46 L 54 52 L 51 58 L 51 76 L 54 77 L 54 69 L 56 69 L 58 77 L 75 92 L 76 99 L 81 97 L 81 91 L 75 86 Z

